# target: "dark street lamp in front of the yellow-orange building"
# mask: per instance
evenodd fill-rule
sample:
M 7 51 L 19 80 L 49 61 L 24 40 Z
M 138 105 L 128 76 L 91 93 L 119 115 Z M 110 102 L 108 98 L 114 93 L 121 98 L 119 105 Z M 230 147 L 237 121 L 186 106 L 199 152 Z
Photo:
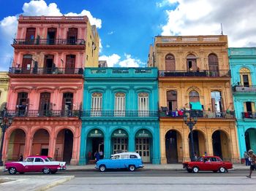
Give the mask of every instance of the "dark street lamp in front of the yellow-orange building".
M 195 147 L 194 147 L 194 138 L 193 138 L 193 127 L 197 123 L 197 112 L 192 111 L 184 111 L 183 120 L 185 124 L 189 127 L 190 130 L 190 146 L 191 146 L 191 153 L 190 153 L 190 160 L 195 161 Z

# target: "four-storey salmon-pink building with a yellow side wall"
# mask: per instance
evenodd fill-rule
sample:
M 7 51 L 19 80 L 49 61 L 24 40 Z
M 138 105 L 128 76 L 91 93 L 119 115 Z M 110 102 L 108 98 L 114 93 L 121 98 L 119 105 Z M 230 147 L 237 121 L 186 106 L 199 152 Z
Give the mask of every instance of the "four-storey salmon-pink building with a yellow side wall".
M 12 44 L 4 160 L 22 153 L 78 164 L 83 68 L 98 66 L 99 36 L 83 17 L 23 16 Z

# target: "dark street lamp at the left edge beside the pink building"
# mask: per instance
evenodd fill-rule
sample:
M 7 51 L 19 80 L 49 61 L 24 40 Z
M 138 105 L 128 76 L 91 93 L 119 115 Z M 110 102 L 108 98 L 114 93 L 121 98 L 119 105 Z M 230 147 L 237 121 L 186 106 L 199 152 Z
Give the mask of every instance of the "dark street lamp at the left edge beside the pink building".
M 7 113 L 7 109 L 4 108 L 1 111 L 0 126 L 1 126 L 1 147 L 0 147 L 0 166 L 3 165 L 2 152 L 4 146 L 4 134 L 7 128 L 12 125 L 12 117 Z

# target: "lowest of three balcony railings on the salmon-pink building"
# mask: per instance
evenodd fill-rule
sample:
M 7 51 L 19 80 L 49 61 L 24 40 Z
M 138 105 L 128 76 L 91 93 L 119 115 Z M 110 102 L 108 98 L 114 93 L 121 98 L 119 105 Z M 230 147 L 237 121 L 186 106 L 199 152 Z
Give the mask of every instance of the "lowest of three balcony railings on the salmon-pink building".
M 79 110 L 8 110 L 12 117 L 79 117 Z

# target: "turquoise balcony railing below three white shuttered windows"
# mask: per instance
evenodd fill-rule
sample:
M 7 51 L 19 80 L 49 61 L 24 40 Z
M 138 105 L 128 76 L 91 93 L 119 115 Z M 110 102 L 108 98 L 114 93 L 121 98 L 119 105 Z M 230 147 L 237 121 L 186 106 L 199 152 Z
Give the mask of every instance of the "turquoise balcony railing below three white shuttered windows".
M 80 112 L 80 117 L 158 117 L 158 111 L 86 110 Z

